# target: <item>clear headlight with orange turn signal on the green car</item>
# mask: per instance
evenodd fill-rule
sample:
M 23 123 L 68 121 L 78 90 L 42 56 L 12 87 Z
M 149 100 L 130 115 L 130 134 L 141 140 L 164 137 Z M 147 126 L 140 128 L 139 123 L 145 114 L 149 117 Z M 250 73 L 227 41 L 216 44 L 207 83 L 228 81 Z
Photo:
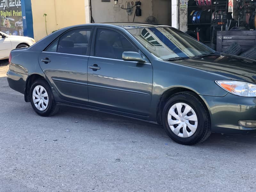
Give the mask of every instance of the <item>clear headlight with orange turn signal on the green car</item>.
M 244 81 L 215 81 L 221 88 L 242 97 L 256 97 L 256 84 Z

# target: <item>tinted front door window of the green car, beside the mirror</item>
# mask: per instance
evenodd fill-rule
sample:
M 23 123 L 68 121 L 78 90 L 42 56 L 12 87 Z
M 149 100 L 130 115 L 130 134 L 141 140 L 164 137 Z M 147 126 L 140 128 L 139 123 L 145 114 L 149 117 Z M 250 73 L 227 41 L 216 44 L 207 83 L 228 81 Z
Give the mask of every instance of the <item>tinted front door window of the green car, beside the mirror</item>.
M 109 29 L 98 29 L 94 56 L 122 60 L 123 52 L 138 50 L 120 33 Z

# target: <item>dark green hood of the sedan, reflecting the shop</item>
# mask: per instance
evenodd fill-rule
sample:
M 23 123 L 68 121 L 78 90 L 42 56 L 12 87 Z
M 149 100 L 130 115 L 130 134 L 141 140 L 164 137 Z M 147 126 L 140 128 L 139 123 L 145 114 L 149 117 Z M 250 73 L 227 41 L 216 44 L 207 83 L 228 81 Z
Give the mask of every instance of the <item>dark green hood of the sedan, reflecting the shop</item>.
M 219 74 L 229 78 L 230 80 L 256 83 L 256 61 L 238 56 L 221 53 L 202 58 L 172 62 Z

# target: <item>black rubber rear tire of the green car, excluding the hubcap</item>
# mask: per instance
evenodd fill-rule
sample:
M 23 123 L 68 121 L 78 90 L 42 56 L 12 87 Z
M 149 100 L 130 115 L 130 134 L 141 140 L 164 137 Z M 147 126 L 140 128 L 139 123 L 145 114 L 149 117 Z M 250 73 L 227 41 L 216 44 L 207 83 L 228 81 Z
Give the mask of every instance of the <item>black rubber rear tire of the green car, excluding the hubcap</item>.
M 34 102 L 33 102 L 33 90 L 37 85 L 41 85 L 45 88 L 46 92 L 48 93 L 48 106 L 44 111 L 41 111 L 36 108 Z M 44 79 L 38 79 L 36 80 L 30 88 L 30 103 L 35 110 L 35 112 L 40 116 L 52 116 L 56 114 L 59 110 L 59 106 L 55 103 L 51 87 Z

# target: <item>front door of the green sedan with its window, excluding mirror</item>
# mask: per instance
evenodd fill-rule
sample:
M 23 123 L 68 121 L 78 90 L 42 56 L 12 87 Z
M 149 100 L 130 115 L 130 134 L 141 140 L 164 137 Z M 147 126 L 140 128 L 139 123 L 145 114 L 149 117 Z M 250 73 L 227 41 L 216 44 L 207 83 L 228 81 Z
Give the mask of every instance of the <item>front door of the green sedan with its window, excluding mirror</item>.
M 146 119 L 152 94 L 152 65 L 122 59 L 123 52 L 140 51 L 120 31 L 97 28 L 94 36 L 88 61 L 89 104 Z

